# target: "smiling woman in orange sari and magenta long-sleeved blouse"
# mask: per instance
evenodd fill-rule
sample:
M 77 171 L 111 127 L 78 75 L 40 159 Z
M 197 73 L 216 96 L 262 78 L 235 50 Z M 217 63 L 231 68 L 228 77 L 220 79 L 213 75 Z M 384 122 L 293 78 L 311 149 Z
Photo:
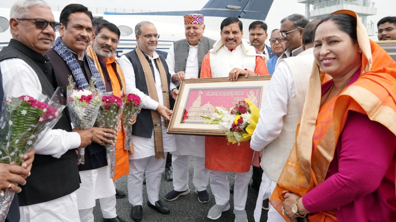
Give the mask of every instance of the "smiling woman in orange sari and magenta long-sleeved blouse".
M 270 198 L 287 221 L 396 218 L 396 62 L 367 36 L 349 10 L 316 27 L 315 60 L 333 79 L 322 85 L 326 74 L 314 64 L 296 143 Z

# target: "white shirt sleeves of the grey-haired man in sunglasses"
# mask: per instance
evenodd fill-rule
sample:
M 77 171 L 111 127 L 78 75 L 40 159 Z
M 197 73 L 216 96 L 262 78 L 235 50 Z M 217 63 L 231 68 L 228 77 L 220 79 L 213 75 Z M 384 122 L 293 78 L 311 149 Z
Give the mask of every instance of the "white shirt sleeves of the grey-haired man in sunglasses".
M 8 97 L 23 95 L 37 99 L 42 93 L 40 81 L 36 72 L 23 60 L 9 58 L 0 62 L 3 73 L 4 100 Z M 69 149 L 80 146 L 81 138 L 76 132 L 65 130 L 50 130 L 34 147 L 36 154 L 61 157 Z

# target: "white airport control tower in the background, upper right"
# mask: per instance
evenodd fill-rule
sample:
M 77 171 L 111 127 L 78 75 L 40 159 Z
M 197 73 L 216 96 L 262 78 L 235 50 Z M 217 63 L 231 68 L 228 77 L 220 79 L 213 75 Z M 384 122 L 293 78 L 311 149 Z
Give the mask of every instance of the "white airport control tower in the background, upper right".
M 305 4 L 305 17 L 308 19 L 326 17 L 341 9 L 352 10 L 358 14 L 366 26 L 369 36 L 376 35 L 374 22 L 367 23 L 367 16 L 377 14 L 375 3 L 370 0 L 297 0 L 297 2 Z

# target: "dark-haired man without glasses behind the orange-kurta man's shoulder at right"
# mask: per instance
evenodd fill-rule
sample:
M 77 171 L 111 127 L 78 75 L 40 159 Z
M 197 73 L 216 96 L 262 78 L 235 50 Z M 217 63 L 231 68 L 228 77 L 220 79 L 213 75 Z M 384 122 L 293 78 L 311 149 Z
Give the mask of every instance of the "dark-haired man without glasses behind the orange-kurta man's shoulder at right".
M 271 47 L 265 44 L 267 40 L 267 29 L 268 26 L 263 21 L 254 21 L 249 25 L 249 40 L 250 44 L 258 49 L 267 61 L 274 56 Z

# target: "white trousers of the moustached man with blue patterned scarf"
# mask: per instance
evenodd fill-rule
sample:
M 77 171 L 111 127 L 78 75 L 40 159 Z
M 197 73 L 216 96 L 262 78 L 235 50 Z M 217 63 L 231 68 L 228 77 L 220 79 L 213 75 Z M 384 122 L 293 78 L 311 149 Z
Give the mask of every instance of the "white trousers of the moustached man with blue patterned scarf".
M 108 198 L 99 198 L 99 203 L 103 218 L 114 218 L 117 216 L 115 195 Z M 80 214 L 81 222 L 93 222 L 93 207 L 78 210 L 78 214 Z

